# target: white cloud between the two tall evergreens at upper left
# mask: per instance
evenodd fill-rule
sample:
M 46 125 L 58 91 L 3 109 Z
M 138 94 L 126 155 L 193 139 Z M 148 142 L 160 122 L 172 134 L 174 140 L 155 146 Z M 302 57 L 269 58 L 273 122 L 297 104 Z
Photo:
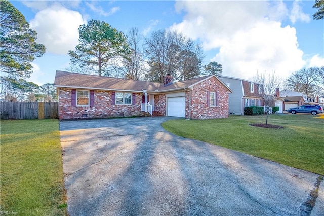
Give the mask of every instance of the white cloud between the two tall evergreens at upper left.
M 85 23 L 79 12 L 54 4 L 39 11 L 30 27 L 37 31 L 37 42 L 45 45 L 46 52 L 67 54 L 78 44 L 78 27 Z

